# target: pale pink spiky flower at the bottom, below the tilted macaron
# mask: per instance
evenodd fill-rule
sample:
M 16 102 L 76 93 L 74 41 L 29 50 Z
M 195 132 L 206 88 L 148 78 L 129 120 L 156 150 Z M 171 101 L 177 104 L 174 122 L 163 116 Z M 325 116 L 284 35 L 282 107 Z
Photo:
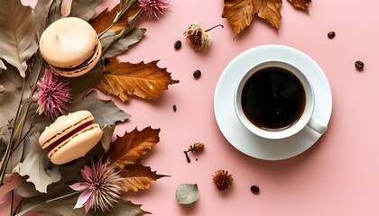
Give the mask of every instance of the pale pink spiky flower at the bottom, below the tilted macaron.
M 108 161 L 102 164 L 101 159 L 96 164 L 92 161 L 91 167 L 84 166 L 80 170 L 80 175 L 87 182 L 69 185 L 73 190 L 82 192 L 74 209 L 84 206 L 86 212 L 91 208 L 95 211 L 111 211 L 121 197 L 123 180 L 115 166 L 111 166 Z

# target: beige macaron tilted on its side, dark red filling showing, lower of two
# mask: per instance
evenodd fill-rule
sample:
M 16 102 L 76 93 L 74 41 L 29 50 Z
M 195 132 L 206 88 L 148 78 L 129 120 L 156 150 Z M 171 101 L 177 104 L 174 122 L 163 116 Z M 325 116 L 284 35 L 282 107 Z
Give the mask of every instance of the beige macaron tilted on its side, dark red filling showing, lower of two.
M 47 149 L 56 165 L 84 157 L 103 136 L 103 130 L 93 123 L 91 112 L 78 111 L 60 116 L 42 132 L 39 143 Z

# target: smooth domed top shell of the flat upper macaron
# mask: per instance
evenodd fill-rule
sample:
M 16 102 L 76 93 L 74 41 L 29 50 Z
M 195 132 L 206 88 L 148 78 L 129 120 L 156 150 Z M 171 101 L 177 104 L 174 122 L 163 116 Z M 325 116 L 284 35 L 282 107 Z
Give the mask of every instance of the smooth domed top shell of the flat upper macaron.
M 43 58 L 55 67 L 79 65 L 93 54 L 97 32 L 86 21 L 62 18 L 46 28 L 40 39 Z

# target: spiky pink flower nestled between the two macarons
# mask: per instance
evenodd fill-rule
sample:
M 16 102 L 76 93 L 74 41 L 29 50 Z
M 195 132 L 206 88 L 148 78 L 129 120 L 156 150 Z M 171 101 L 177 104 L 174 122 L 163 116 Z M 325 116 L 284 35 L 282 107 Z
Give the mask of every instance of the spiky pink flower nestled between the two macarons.
M 37 112 L 39 114 L 44 112 L 53 119 L 64 114 L 71 99 L 69 82 L 64 77 L 55 76 L 49 69 L 45 69 L 45 74 L 37 85 L 40 87 Z

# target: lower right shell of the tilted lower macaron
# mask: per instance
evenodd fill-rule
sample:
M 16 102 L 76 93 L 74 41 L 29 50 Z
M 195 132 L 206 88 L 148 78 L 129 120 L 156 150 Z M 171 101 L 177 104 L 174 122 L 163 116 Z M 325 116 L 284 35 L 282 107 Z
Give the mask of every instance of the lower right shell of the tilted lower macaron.
M 103 130 L 99 128 L 98 124 L 92 124 L 73 135 L 68 142 L 61 143 L 59 147 L 52 149 L 48 156 L 51 157 L 53 164 L 66 164 L 79 157 L 84 157 L 90 149 L 96 146 L 102 136 Z

